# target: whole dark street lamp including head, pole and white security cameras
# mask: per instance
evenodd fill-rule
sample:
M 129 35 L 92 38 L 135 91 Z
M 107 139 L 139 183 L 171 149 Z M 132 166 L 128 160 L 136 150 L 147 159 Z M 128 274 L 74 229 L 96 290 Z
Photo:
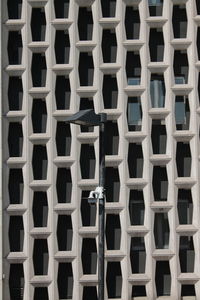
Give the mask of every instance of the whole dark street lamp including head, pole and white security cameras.
M 99 203 L 99 240 L 98 240 L 98 300 L 104 300 L 104 223 L 105 223 L 105 144 L 104 129 L 107 115 L 96 114 L 93 109 L 81 110 L 66 119 L 67 123 L 83 126 L 99 126 L 99 186 L 91 191 L 88 201 Z

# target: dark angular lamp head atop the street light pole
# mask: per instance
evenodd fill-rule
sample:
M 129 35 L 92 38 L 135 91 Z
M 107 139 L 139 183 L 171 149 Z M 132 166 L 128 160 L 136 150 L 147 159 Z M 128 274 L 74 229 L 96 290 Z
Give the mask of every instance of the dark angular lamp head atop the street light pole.
M 71 117 L 65 119 L 67 123 L 83 126 L 100 126 L 106 122 L 106 114 L 96 114 L 93 109 L 80 110 Z

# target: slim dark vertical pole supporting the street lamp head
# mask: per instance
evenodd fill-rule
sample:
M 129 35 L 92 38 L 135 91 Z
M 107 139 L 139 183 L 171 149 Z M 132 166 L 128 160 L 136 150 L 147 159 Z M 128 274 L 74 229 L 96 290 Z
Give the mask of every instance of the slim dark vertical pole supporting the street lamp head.
M 103 115 L 103 114 L 102 114 Z M 99 127 L 99 186 L 103 188 L 103 197 L 99 199 L 99 256 L 98 256 L 98 300 L 104 300 L 104 219 L 105 219 L 105 144 L 104 127 Z

